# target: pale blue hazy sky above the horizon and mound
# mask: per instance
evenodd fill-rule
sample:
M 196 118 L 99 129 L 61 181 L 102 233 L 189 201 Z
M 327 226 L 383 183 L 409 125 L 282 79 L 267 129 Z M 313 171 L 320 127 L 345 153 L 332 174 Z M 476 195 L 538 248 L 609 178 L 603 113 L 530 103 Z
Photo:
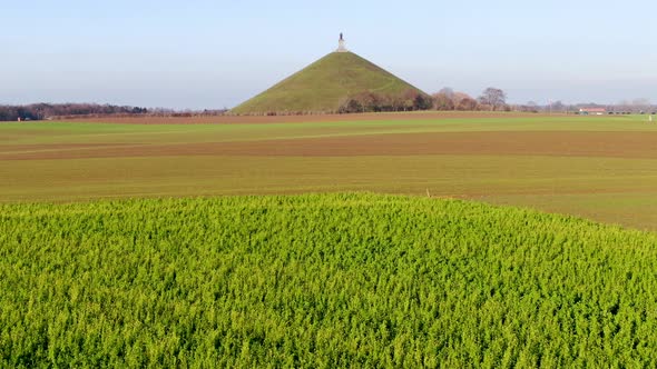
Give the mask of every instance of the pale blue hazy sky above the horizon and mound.
M 657 2 L 0 0 L 0 104 L 231 108 L 337 47 L 425 92 L 657 102 Z

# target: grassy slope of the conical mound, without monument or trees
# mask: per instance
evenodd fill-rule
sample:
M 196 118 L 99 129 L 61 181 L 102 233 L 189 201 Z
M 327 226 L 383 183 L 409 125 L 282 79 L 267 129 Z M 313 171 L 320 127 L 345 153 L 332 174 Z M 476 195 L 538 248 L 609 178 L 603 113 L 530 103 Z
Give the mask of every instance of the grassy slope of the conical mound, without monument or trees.
M 231 111 L 335 112 L 359 92 L 395 96 L 406 90 L 420 91 L 353 52 L 332 52 Z

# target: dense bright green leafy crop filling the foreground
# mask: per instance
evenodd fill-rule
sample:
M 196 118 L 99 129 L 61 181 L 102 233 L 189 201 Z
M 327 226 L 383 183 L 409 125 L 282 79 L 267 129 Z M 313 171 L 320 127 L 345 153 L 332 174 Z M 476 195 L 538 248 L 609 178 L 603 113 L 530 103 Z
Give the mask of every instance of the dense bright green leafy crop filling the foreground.
M 0 367 L 655 367 L 657 236 L 306 195 L 0 206 Z

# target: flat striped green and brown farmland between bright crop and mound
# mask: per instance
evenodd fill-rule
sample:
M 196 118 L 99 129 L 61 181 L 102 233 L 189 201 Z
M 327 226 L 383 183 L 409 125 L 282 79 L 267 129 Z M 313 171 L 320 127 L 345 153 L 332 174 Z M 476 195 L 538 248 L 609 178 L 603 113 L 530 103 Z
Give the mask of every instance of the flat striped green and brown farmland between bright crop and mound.
M 429 192 L 657 229 L 645 116 L 95 120 L 1 123 L 0 201 Z

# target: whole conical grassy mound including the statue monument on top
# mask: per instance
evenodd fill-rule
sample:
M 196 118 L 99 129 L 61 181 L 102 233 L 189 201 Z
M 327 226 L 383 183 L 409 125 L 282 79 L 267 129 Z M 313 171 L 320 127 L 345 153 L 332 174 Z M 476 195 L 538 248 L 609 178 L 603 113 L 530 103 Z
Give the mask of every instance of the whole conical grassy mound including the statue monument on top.
M 340 40 L 331 52 L 232 109 L 237 114 L 413 110 L 426 93 L 366 59 Z

